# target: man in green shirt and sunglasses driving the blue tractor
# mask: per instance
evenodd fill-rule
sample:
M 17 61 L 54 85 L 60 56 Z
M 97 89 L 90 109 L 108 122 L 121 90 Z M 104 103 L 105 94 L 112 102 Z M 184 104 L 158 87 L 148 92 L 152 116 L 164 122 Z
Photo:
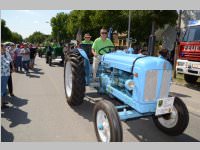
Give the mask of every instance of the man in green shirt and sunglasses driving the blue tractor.
M 96 80 L 96 73 L 97 73 L 99 62 L 101 61 L 101 55 L 106 53 L 107 48 L 105 48 L 105 50 L 102 51 L 101 53 L 99 50 L 108 46 L 114 47 L 112 41 L 109 38 L 107 38 L 107 36 L 108 36 L 107 29 L 102 28 L 100 30 L 100 37 L 97 38 L 92 45 L 92 54 L 94 55 L 94 59 L 93 59 L 93 80 L 94 81 Z

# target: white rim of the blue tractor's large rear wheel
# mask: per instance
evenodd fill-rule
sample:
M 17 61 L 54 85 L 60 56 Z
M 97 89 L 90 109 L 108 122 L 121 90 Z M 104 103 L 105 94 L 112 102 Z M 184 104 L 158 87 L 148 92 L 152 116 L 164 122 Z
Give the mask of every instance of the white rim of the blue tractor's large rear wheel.
M 65 91 L 70 97 L 72 94 L 72 67 L 69 61 L 65 65 Z

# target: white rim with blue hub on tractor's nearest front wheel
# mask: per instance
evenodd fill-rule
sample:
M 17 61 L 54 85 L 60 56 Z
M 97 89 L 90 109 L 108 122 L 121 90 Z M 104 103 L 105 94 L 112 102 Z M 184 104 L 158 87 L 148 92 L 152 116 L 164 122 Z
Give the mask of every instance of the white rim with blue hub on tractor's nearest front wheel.
M 110 124 L 106 113 L 103 110 L 99 110 L 97 112 L 96 120 L 96 126 L 101 141 L 110 142 Z

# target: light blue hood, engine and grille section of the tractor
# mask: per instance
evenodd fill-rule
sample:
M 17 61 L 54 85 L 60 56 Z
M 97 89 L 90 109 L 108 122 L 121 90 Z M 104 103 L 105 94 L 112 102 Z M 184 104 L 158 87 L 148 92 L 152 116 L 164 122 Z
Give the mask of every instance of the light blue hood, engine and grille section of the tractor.
M 163 58 L 116 51 L 101 58 L 99 91 L 141 113 L 152 112 L 157 99 L 168 97 L 171 77 L 172 66 Z

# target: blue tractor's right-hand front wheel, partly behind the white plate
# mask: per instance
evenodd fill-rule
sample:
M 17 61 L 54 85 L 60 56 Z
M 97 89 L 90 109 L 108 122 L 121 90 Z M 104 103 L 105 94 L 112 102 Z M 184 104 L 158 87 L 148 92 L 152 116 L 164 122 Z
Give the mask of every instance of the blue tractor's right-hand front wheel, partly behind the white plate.
M 189 114 L 183 101 L 175 97 L 174 108 L 171 114 L 153 116 L 155 125 L 170 136 L 177 136 L 184 132 L 189 123 Z

